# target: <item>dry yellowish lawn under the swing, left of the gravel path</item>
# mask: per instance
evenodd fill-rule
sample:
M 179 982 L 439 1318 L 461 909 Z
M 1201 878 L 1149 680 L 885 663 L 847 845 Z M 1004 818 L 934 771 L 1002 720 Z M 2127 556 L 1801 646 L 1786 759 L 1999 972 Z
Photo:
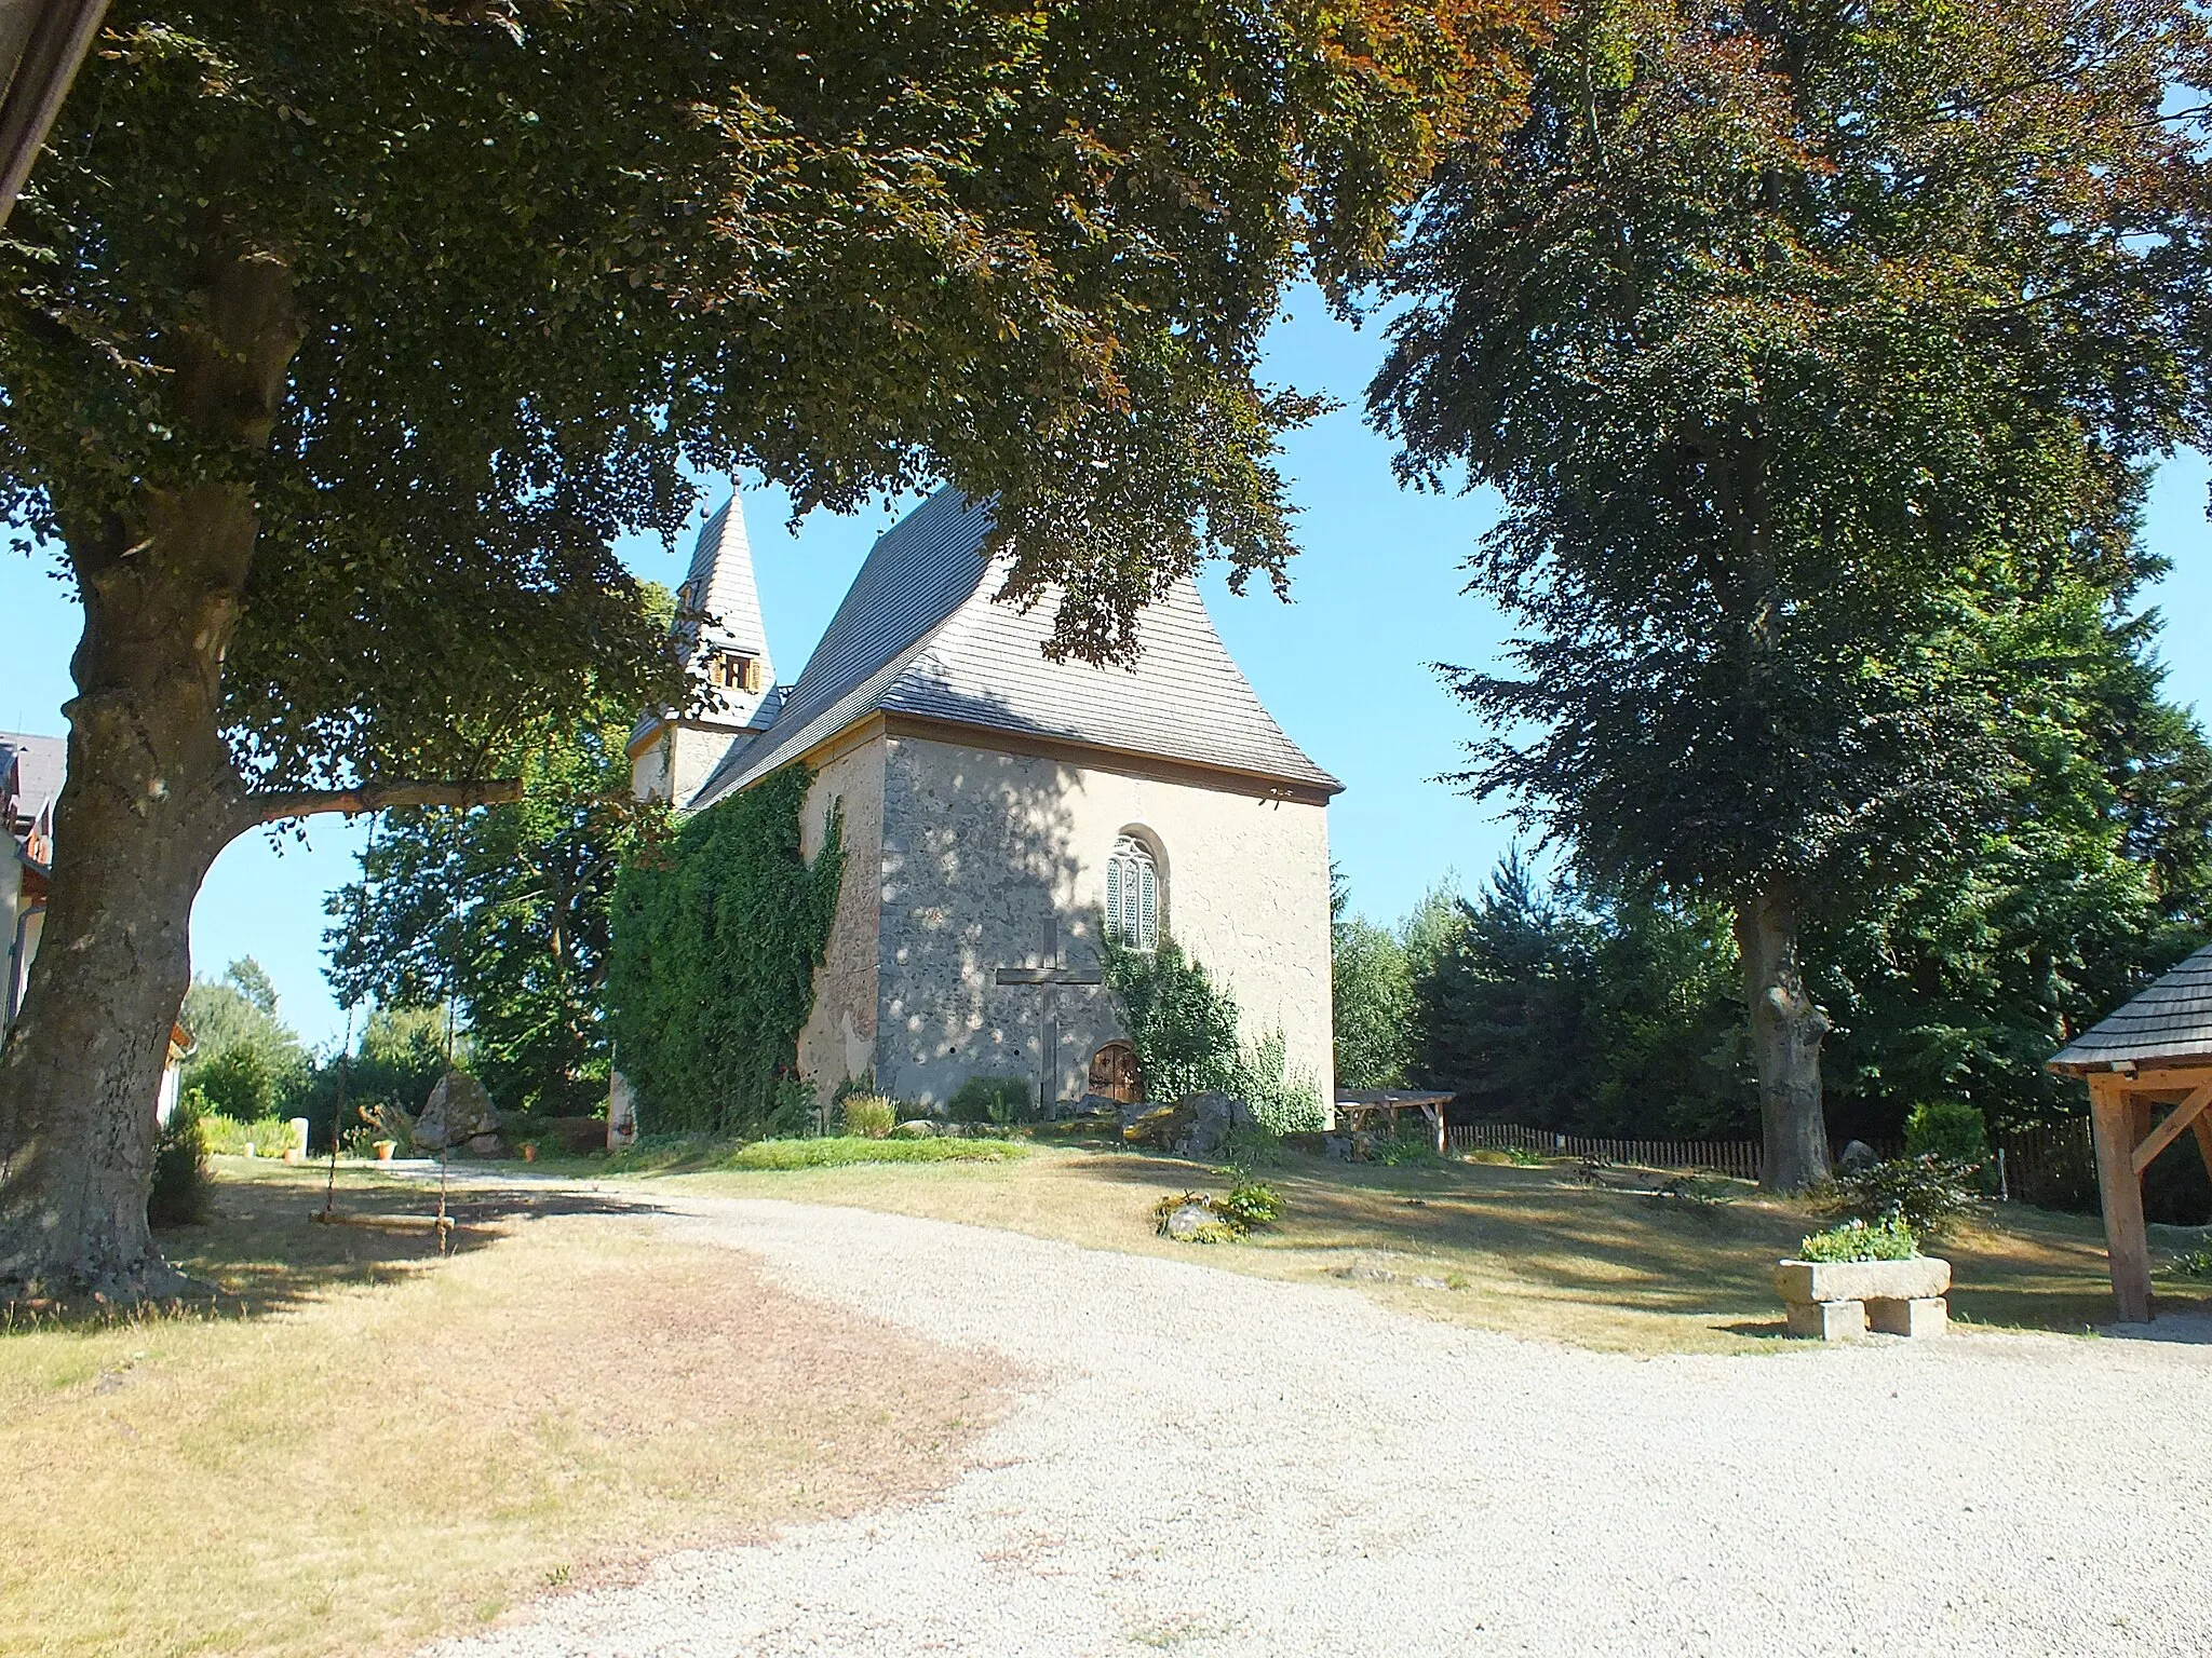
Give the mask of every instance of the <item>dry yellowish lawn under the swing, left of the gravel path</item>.
M 933 1490 L 1004 1397 L 588 1198 L 462 1189 L 440 1260 L 420 1189 L 221 1165 L 164 1240 L 219 1315 L 0 1333 L 0 1651 L 400 1651 Z

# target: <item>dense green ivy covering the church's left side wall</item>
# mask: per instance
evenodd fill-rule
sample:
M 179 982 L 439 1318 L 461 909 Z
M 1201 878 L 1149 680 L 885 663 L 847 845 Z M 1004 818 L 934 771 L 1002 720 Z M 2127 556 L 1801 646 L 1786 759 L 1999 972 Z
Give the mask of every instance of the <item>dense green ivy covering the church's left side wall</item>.
M 648 1134 L 759 1134 L 796 1096 L 799 1030 L 845 875 L 843 814 L 799 849 L 787 767 L 639 849 L 615 886 L 608 1017 Z

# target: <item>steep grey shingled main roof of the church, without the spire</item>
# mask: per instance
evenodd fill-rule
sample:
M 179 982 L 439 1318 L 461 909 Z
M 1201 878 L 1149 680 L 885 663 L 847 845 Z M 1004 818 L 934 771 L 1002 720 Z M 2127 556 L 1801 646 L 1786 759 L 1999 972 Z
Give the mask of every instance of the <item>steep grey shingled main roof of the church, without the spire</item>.
M 1044 657 L 1053 599 L 993 604 L 991 508 L 942 489 L 891 526 L 854 577 L 774 723 L 732 747 L 695 796 L 708 807 L 869 714 L 980 725 L 1336 794 L 1261 707 L 1190 581 L 1137 626 L 1135 668 Z

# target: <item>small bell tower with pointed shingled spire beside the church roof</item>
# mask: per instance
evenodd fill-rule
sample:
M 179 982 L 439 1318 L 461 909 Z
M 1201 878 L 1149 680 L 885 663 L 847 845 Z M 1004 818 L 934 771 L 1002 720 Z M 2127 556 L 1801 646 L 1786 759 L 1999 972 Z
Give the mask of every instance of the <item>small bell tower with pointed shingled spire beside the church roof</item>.
M 732 747 L 774 723 L 783 701 L 737 495 L 699 528 L 668 646 L 692 683 L 706 688 L 706 705 L 659 710 L 637 723 L 630 789 L 639 800 L 670 800 L 681 811 Z

